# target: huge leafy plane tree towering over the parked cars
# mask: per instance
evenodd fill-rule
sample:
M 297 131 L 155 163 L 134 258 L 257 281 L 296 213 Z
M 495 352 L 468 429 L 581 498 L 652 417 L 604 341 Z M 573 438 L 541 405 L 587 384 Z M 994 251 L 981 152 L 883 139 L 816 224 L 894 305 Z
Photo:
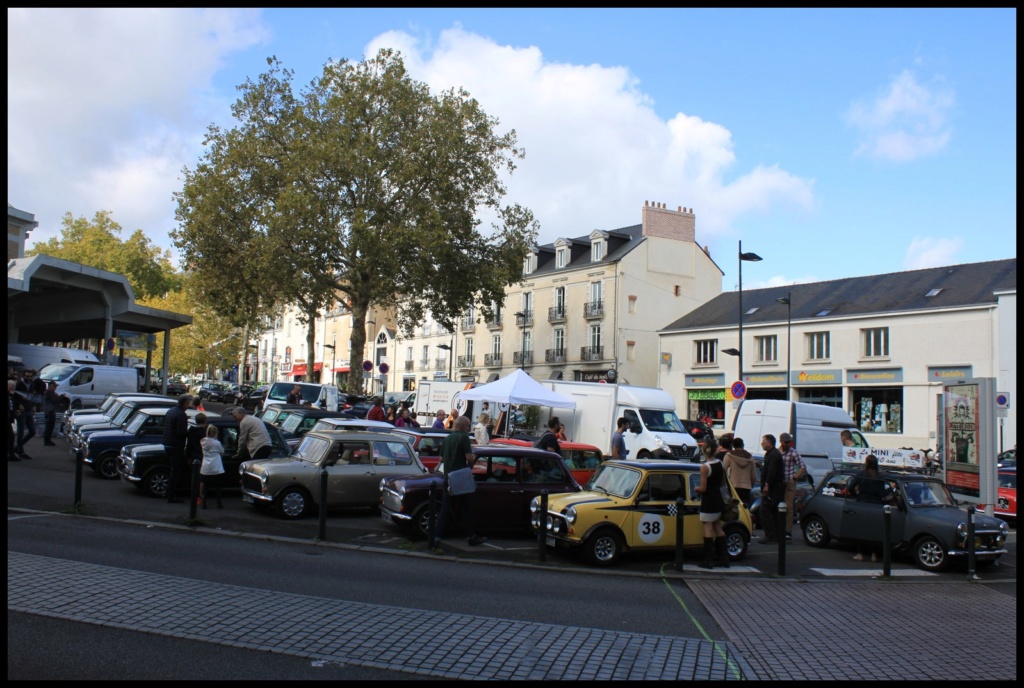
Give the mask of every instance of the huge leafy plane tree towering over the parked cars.
M 184 171 L 175 242 L 186 263 L 259 275 L 252 289 L 306 314 L 310 351 L 313 320 L 340 298 L 353 317 L 351 360 L 374 306 L 394 308 L 399 327 L 430 311 L 451 328 L 474 302 L 489 314 L 537 236 L 527 209 L 502 205 L 501 175 L 523 156 L 515 132 L 497 133 L 462 89 L 432 94 L 390 50 L 329 62 L 298 94 L 293 74 L 267 61 L 240 87 L 238 126 L 211 127 Z M 498 218 L 486 233 L 484 210 Z

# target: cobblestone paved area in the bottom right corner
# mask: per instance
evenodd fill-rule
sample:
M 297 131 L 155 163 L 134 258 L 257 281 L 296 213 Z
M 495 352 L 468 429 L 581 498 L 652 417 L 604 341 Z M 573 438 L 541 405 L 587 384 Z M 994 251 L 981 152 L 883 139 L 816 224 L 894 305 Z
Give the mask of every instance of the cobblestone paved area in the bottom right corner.
M 690 582 L 765 680 L 1017 678 L 1017 608 L 984 586 Z

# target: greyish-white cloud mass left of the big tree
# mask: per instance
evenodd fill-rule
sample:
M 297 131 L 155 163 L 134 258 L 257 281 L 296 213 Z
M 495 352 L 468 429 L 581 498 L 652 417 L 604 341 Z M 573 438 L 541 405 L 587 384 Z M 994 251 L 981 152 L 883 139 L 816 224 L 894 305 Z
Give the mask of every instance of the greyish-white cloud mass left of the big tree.
M 169 247 L 180 169 L 226 110 L 211 78 L 265 35 L 251 10 L 8 9 L 7 201 L 32 242 L 110 210 Z

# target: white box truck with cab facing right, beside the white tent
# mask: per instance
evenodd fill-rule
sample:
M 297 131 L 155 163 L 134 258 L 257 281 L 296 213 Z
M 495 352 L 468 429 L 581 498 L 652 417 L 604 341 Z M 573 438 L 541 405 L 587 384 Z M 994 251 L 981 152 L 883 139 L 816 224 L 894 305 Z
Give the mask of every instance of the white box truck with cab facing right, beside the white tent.
M 552 412 L 562 421 L 570 441 L 593 444 L 608 455 L 615 421 L 625 418 L 630 422 L 626 433 L 629 459 L 698 459 L 697 442 L 679 421 L 676 402 L 664 389 L 565 380 L 541 384 L 577 402 L 574 410 Z

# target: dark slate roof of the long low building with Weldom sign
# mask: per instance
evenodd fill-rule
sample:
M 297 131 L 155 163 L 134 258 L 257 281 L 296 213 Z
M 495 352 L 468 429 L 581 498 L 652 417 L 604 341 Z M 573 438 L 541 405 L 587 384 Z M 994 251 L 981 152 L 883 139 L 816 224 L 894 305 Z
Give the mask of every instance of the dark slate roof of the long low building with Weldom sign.
M 928 297 L 930 291 L 938 295 Z M 793 319 L 843 317 L 994 304 L 993 292 L 1017 289 L 1017 259 L 965 263 L 923 270 L 845 277 L 806 285 L 743 290 L 743 325 L 786 320 L 785 304 L 775 299 L 791 294 Z M 752 308 L 757 308 L 753 313 Z M 824 315 L 821 311 L 830 309 Z M 737 324 L 738 292 L 720 294 L 662 333 L 703 330 Z

